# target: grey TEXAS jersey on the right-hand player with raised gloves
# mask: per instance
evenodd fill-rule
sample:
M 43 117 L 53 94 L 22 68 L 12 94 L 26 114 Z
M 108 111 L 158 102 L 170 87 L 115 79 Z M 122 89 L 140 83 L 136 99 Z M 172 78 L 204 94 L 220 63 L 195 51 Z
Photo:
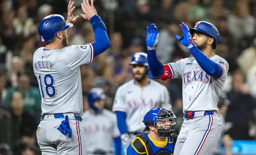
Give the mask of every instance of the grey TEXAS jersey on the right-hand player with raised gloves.
M 219 95 L 226 81 L 229 64 L 218 55 L 210 58 L 222 69 L 219 78 L 209 76 L 194 57 L 169 63 L 173 77 L 182 77 L 183 112 L 218 110 Z

